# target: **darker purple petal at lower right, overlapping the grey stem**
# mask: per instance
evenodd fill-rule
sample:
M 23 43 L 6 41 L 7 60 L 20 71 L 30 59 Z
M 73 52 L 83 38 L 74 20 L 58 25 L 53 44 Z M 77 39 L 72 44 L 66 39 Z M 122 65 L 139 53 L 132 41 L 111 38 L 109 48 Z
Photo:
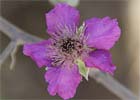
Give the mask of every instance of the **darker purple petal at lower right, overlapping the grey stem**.
M 95 50 L 89 53 L 89 56 L 84 57 L 87 67 L 96 67 L 103 72 L 113 74 L 116 66 L 112 63 L 112 57 L 106 50 Z

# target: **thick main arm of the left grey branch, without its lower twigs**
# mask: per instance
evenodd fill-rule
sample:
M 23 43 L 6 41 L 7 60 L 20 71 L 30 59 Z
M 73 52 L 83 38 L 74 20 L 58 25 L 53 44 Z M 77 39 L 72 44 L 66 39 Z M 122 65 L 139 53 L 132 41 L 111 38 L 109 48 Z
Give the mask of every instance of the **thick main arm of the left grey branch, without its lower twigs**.
M 38 42 L 41 41 L 41 38 L 30 35 L 27 32 L 19 29 L 18 27 L 12 25 L 3 17 L 0 17 L 0 30 L 6 34 L 11 40 L 21 40 L 23 42 Z

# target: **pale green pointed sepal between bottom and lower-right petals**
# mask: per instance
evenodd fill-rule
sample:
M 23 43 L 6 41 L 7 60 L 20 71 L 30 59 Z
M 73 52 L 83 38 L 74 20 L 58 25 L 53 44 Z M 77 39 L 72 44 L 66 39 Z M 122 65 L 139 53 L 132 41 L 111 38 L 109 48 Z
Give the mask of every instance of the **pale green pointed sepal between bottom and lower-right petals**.
M 82 60 L 80 60 L 80 59 L 77 59 L 76 63 L 77 63 L 77 65 L 78 65 L 80 74 L 81 74 L 86 80 L 88 80 L 89 68 L 87 68 L 87 67 L 85 66 L 85 63 L 84 63 Z

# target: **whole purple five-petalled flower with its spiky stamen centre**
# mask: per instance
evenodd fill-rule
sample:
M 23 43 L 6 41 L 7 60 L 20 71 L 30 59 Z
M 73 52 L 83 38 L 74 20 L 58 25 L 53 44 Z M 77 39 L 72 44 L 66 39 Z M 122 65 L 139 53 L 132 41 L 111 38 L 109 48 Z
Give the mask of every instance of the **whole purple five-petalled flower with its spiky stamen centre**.
M 113 74 L 116 67 L 109 50 L 120 37 L 116 19 L 91 18 L 78 29 L 79 11 L 60 3 L 46 14 L 50 39 L 40 43 L 25 44 L 23 53 L 30 56 L 39 67 L 46 66 L 45 80 L 50 95 L 56 93 L 63 99 L 72 98 L 82 80 L 77 59 L 88 68 L 97 68 Z

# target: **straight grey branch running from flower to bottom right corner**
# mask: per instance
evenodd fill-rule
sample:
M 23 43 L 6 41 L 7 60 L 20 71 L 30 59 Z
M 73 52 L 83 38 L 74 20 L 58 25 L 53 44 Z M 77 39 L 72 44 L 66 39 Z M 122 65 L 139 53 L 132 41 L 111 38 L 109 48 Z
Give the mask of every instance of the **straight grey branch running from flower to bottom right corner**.
M 108 90 L 116 94 L 122 100 L 138 100 L 130 90 L 128 90 L 125 86 L 120 84 L 108 74 L 100 72 L 96 69 L 91 69 L 89 76 L 94 78 L 97 82 L 105 86 Z

